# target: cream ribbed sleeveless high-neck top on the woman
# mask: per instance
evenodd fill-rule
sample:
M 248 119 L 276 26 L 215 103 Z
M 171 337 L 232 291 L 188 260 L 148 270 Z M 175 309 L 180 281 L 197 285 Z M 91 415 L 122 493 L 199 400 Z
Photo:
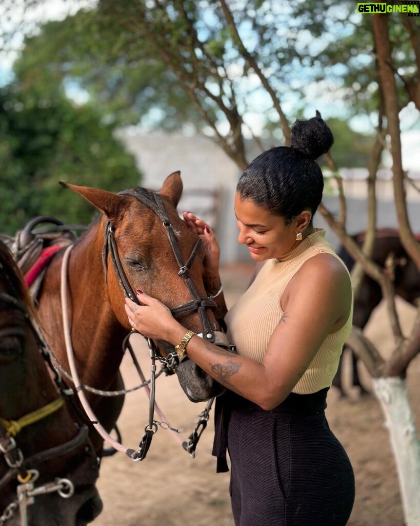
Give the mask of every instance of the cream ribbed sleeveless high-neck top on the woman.
M 280 306 L 283 291 L 301 265 L 322 252 L 328 252 L 341 261 L 325 240 L 325 230 L 316 228 L 285 259 L 265 262 L 253 283 L 225 317 L 227 336 L 235 343 L 238 355 L 262 362 L 268 341 L 283 314 Z M 352 319 L 353 306 L 344 326 L 325 338 L 292 392 L 303 395 L 331 386 Z

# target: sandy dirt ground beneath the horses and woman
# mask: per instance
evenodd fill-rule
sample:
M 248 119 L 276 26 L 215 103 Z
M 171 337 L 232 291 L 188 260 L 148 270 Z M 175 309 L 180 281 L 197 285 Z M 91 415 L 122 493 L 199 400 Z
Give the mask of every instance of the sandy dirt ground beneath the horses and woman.
M 245 290 L 251 267 L 235 266 L 222 271 L 228 307 Z M 405 330 L 414 320 L 414 309 L 398 302 Z M 366 334 L 384 354 L 392 337 L 386 328 L 383 306 L 373 313 Z M 135 348 L 148 376 L 148 348 L 141 336 Z M 139 383 L 129 357 L 122 373 L 126 387 Z M 369 378 L 364 375 L 366 387 Z M 420 428 L 420 357 L 408 370 L 407 387 Z M 356 499 L 349 526 L 403 526 L 398 480 L 387 430 L 379 403 L 373 396 L 340 400 L 331 388 L 327 418 L 353 464 Z M 205 403 L 187 400 L 176 377 L 156 381 L 156 400 L 172 427 L 185 439 L 194 429 Z M 125 447 L 137 448 L 148 422 L 148 399 L 144 390 L 130 393 L 119 420 Z M 159 428 L 144 461 L 133 462 L 118 453 L 103 459 L 98 488 L 104 510 L 95 526 L 233 526 L 228 494 L 228 473 L 215 472 L 211 456 L 213 413 L 192 459 L 172 437 Z M 257 525 L 256 525 L 257 526 Z

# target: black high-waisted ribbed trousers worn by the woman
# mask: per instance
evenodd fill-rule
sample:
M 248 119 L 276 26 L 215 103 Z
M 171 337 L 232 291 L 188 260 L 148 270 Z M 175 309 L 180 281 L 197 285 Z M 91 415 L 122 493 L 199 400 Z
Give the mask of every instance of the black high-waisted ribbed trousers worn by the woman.
M 236 526 L 347 523 L 354 475 L 325 419 L 327 391 L 291 393 L 272 411 L 233 393 L 225 395 L 225 429 L 216 424 L 216 442 L 217 434 L 225 433 Z

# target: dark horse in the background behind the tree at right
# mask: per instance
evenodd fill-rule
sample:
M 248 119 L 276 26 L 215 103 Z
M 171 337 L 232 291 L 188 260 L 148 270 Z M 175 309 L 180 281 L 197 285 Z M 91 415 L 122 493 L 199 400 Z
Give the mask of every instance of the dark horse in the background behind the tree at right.
M 365 232 L 352 236 L 359 246 L 363 244 Z M 419 236 L 417 238 L 420 240 Z M 344 261 L 349 271 L 353 268 L 354 260 L 348 251 L 341 246 L 337 251 L 338 256 Z M 412 305 L 417 298 L 420 298 L 420 272 L 415 262 L 409 257 L 401 244 L 398 230 L 391 228 L 382 228 L 376 231 L 375 243 L 373 247 L 373 260 L 382 268 L 385 267 L 385 261 L 388 256 L 392 256 L 395 261 L 394 269 L 394 287 L 395 294 Z M 360 287 L 358 297 L 354 300 L 353 325 L 363 329 L 373 309 L 379 305 L 382 300 L 381 286 L 369 276 L 364 276 Z M 351 353 L 352 363 L 352 385 L 358 387 L 361 393 L 365 393 L 360 382 L 357 363 L 358 358 Z M 333 385 L 340 390 L 342 396 L 345 392 L 342 388 L 341 381 L 341 361 L 337 374 L 334 377 Z

